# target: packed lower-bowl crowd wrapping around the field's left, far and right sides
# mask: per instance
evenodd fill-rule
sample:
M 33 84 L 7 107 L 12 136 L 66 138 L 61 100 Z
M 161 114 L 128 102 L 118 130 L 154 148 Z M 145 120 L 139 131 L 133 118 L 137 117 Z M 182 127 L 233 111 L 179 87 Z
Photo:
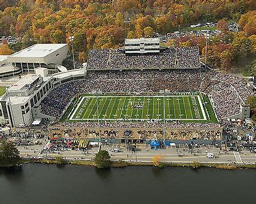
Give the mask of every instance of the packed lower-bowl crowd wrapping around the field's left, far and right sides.
M 100 90 L 103 94 L 149 94 L 161 89 L 169 89 L 171 93 L 202 91 L 208 94 L 218 119 L 239 113 L 240 105 L 253 94 L 243 79 L 210 70 L 204 73 L 193 69 L 88 71 L 85 80 L 67 82 L 51 91 L 41 103 L 42 113 L 58 119 L 74 96 L 93 90 Z

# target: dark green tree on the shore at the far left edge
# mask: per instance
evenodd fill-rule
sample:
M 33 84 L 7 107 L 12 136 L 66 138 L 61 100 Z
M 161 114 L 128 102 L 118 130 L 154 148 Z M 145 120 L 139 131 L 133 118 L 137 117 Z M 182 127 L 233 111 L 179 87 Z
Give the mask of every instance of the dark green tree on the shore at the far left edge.
M 20 152 L 11 141 L 4 141 L 0 145 L 0 164 L 10 165 L 19 161 Z

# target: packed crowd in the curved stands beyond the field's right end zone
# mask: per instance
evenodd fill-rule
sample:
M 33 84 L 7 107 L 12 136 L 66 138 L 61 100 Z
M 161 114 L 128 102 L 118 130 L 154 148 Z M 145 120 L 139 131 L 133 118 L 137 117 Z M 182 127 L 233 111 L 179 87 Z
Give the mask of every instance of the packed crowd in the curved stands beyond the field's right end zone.
M 216 71 L 204 73 L 201 91 L 211 96 L 218 119 L 238 114 L 240 105 L 253 94 L 242 78 Z

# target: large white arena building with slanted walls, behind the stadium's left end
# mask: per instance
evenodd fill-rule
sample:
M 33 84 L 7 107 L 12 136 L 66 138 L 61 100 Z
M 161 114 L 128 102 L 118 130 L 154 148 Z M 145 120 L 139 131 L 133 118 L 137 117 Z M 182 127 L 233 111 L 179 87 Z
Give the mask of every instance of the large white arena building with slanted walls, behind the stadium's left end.
M 22 73 L 34 73 L 35 68 L 48 68 L 50 73 L 67 58 L 68 44 L 35 44 L 9 55 L 7 61 L 21 69 Z

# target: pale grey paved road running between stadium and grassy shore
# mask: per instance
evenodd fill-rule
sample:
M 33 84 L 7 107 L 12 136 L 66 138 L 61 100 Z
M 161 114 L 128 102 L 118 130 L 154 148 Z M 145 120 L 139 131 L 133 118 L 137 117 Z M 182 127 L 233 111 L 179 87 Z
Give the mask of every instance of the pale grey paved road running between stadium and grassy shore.
M 66 150 L 61 152 L 47 152 L 40 154 L 40 150 L 43 149 L 44 145 L 34 145 L 29 147 L 18 147 L 20 155 L 22 157 L 56 157 L 62 156 L 65 159 L 86 159 L 90 160 L 95 157 L 95 153 L 98 151 L 98 147 L 93 147 L 87 152 L 81 150 Z M 111 152 L 110 149 L 120 148 L 121 152 Z M 111 160 L 118 161 L 122 159 L 124 161 L 142 161 L 150 162 L 154 156 L 160 155 L 163 157 L 161 161 L 170 163 L 240 163 L 240 164 L 255 164 L 256 154 L 243 150 L 243 152 L 222 152 L 219 148 L 208 145 L 207 147 L 200 147 L 188 150 L 185 147 L 175 148 L 168 147 L 166 149 L 152 150 L 149 149 L 148 145 L 141 144 L 136 152 L 125 149 L 124 145 L 102 145 L 101 149 L 108 150 Z M 207 152 L 212 152 L 214 158 L 208 158 Z

